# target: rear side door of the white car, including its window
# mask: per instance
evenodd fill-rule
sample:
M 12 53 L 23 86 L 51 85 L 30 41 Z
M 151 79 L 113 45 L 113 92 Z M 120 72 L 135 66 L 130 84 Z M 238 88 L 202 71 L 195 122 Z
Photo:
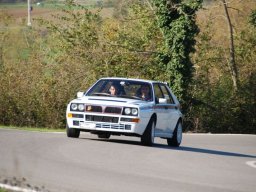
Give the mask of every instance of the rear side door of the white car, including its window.
M 180 117 L 178 109 L 179 106 L 174 102 L 172 94 L 166 84 L 160 84 L 160 88 L 163 92 L 164 98 L 167 100 L 165 105 L 167 113 L 166 131 L 170 132 L 171 130 L 171 132 L 173 132 Z

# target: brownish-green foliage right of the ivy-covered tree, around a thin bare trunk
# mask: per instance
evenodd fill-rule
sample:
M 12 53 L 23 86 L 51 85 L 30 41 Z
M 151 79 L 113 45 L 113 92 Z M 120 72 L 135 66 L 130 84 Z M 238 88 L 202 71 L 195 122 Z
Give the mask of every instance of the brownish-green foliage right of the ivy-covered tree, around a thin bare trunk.
M 199 26 L 197 52 L 194 56 L 195 74 L 191 87 L 193 98 L 186 114 L 186 130 L 212 133 L 256 133 L 256 75 L 255 75 L 255 29 L 245 21 L 248 19 L 248 4 L 231 4 L 236 18 L 235 54 L 239 67 L 240 90 L 232 91 L 232 80 L 228 67 L 228 43 L 223 36 L 225 20 L 216 18 L 222 9 L 204 11 Z M 238 10 L 239 12 L 236 11 Z M 218 10 L 218 11 L 216 11 Z M 241 14 L 243 13 L 243 14 Z

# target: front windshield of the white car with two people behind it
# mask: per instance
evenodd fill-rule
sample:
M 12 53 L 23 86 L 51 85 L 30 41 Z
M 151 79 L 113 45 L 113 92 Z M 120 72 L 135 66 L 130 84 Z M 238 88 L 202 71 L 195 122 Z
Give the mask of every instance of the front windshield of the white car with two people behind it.
M 153 100 L 150 83 L 132 80 L 102 79 L 86 95 L 122 97 L 145 101 Z

